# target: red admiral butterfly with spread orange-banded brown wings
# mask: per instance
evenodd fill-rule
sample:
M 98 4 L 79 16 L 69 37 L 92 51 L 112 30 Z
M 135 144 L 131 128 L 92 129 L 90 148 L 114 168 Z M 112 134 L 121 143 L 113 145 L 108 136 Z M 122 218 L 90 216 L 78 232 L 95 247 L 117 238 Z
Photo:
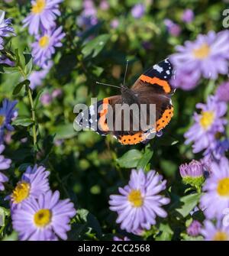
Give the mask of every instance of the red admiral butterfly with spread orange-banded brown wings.
M 145 143 L 150 139 L 151 134 L 158 133 L 165 128 L 173 117 L 171 96 L 173 96 L 174 91 L 169 85 L 169 79 L 171 79 L 172 76 L 172 64 L 168 59 L 163 60 L 142 74 L 131 89 L 123 85 L 120 87 L 121 95 L 102 99 L 101 101 L 96 102 L 96 104 L 93 104 L 89 108 L 80 112 L 76 118 L 76 123 L 78 123 L 82 128 L 92 128 L 101 135 L 113 134 L 121 144 Z M 122 113 L 117 111 L 115 105 L 124 104 L 147 105 L 147 120 L 149 119 L 148 106 L 150 104 L 155 104 L 156 123 L 154 123 L 151 128 L 147 128 L 146 130 L 140 128 L 136 131 L 133 129 L 133 123 L 137 117 L 136 115 L 132 115 L 131 125 L 128 131 L 124 131 L 122 129 L 118 131 L 115 130 L 115 116 L 121 116 L 122 119 L 124 118 Z M 111 109 L 109 109 L 108 106 L 110 106 Z M 114 119 L 113 127 L 108 125 L 107 122 L 108 117 L 112 112 L 111 110 L 113 111 L 111 118 Z M 83 121 L 86 121 L 86 125 Z

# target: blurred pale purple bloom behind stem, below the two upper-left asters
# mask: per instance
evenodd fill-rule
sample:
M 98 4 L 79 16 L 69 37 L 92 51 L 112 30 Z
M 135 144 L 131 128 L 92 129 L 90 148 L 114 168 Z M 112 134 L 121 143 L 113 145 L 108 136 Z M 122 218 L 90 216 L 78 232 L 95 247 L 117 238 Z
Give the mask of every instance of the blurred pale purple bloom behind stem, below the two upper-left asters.
M 50 72 L 51 67 L 53 66 L 53 62 L 50 60 L 47 63 L 47 66 L 44 66 L 44 69 L 39 71 L 34 71 L 29 76 L 29 80 L 31 81 L 30 87 L 31 89 L 35 89 L 37 86 L 40 86 L 42 80 L 45 79 L 47 74 Z

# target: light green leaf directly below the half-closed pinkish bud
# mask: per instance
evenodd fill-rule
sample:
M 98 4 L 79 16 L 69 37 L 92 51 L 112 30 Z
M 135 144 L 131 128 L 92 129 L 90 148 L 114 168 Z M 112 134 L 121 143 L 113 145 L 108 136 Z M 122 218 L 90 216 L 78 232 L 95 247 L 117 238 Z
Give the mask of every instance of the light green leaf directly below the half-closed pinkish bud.
M 176 209 L 176 212 L 179 212 L 185 218 L 198 204 L 200 197 L 201 194 L 199 193 L 193 193 L 189 196 L 183 196 L 180 199 L 182 206 L 179 209 Z

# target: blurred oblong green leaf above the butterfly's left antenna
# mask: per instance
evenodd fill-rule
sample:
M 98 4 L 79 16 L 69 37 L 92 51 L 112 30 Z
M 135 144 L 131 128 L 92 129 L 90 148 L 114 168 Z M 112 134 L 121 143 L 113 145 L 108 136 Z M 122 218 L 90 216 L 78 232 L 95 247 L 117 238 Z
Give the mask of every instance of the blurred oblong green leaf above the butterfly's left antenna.
M 102 34 L 98 37 L 95 37 L 92 41 L 87 42 L 82 48 L 82 54 L 85 57 L 88 57 L 91 54 L 92 58 L 96 57 L 98 53 L 100 53 L 105 47 L 105 44 L 108 42 L 109 37 L 110 36 L 108 34 Z

